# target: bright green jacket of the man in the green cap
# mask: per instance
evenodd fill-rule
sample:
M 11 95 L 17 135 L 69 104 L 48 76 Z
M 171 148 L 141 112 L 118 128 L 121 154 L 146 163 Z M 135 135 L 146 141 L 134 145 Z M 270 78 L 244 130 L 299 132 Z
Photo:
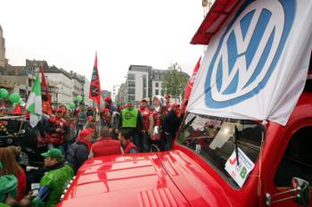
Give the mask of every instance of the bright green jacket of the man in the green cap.
M 40 186 L 48 186 L 50 193 L 45 198 L 44 203 L 35 199 L 33 206 L 55 206 L 60 202 L 64 188 L 73 176 L 74 171 L 66 164 L 59 164 L 54 166 L 52 170 L 45 172 L 45 176 L 40 180 Z

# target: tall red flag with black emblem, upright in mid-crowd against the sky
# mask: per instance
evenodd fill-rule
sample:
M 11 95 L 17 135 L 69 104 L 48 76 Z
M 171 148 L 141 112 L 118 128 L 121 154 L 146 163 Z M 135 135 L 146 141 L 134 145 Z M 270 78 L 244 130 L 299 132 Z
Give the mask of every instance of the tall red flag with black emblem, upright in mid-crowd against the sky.
M 92 72 L 89 98 L 94 100 L 100 112 L 100 102 L 101 102 L 101 85 L 99 72 L 97 70 L 97 54 L 95 54 L 94 70 Z

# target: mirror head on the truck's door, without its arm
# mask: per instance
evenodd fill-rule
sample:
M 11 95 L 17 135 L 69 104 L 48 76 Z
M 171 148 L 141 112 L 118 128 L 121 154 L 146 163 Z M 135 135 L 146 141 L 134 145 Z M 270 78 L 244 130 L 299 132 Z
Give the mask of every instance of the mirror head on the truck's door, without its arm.
M 298 194 L 295 198 L 295 202 L 302 206 L 308 206 L 310 201 L 310 186 L 309 183 L 300 178 L 291 179 L 291 188 L 298 189 Z

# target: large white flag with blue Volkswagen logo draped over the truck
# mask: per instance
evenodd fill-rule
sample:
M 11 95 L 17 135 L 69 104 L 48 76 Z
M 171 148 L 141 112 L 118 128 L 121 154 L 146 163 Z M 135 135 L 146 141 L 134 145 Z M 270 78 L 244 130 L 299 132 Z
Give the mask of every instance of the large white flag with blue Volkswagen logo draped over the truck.
M 246 0 L 211 38 L 187 110 L 282 125 L 304 88 L 311 0 Z

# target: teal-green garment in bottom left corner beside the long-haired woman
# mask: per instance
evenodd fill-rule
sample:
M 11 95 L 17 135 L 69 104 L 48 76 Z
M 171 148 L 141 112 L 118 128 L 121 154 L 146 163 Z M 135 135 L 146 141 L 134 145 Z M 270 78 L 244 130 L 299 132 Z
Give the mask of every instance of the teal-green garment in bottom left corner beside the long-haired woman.
M 0 203 L 5 203 L 7 194 L 16 197 L 17 194 L 17 178 L 14 175 L 0 176 Z

